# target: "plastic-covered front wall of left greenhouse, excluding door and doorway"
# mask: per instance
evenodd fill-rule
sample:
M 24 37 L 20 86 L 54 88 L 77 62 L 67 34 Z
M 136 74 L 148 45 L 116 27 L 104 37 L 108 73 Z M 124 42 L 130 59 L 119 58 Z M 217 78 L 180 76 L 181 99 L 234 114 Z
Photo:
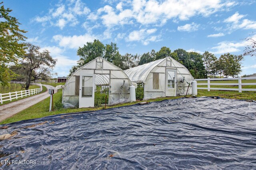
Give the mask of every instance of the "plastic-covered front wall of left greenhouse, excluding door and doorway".
M 68 78 L 62 91 L 62 104 L 64 107 L 79 106 L 79 80 L 80 75 L 83 74 L 103 75 L 96 76 L 98 80 L 95 81 L 95 84 L 109 82 L 109 105 L 130 102 L 129 86 L 131 82 L 128 76 L 114 64 L 98 57 L 90 63 L 78 68 L 78 70 Z M 100 80 L 100 78 L 104 80 Z M 124 87 L 122 88 L 123 83 Z

